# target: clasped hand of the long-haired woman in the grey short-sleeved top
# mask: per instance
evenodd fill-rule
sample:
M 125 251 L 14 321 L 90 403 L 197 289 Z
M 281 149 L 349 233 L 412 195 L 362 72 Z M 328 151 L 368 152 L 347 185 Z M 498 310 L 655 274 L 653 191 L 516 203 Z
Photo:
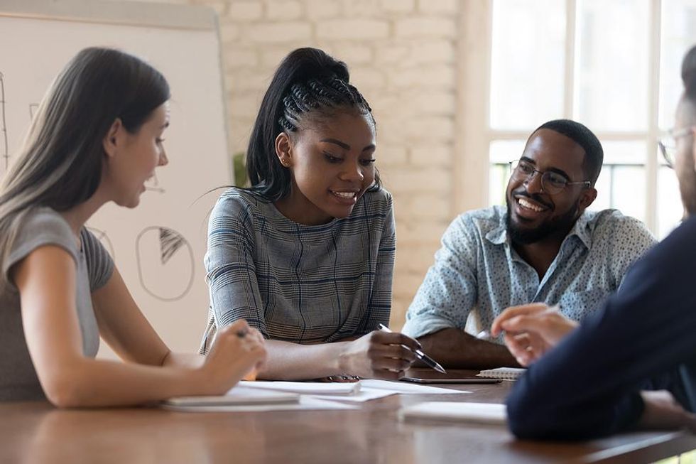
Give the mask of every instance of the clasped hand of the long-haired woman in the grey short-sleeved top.
M 263 336 L 246 320 L 218 330 L 201 367 L 205 382 L 210 382 L 208 394 L 224 394 L 252 370 L 263 369 L 265 362 Z

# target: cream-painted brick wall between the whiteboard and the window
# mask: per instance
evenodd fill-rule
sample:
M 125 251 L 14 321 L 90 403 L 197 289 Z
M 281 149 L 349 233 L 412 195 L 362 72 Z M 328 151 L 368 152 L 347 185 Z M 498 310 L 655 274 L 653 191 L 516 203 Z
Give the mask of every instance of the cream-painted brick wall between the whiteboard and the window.
M 183 0 L 163 0 L 185 3 Z M 455 214 L 459 0 L 190 0 L 219 14 L 233 151 L 244 151 L 273 70 L 293 48 L 344 60 L 378 124 L 377 166 L 396 205 L 392 325 Z

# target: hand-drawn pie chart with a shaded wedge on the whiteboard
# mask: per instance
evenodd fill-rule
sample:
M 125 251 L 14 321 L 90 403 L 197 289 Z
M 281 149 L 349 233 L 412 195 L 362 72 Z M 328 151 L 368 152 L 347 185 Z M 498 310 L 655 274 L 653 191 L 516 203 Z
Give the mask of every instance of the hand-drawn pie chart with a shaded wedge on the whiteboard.
M 168 227 L 146 227 L 136 239 L 140 283 L 161 301 L 183 298 L 193 285 L 193 249 L 182 234 Z

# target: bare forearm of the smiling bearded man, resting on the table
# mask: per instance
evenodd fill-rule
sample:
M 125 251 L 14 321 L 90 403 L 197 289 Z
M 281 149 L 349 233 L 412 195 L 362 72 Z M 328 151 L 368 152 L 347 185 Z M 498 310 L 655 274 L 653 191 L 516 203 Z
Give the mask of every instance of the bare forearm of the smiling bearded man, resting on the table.
M 452 369 L 489 369 L 518 367 L 515 358 L 504 345 L 478 340 L 464 330 L 447 328 L 418 338 L 423 351 Z

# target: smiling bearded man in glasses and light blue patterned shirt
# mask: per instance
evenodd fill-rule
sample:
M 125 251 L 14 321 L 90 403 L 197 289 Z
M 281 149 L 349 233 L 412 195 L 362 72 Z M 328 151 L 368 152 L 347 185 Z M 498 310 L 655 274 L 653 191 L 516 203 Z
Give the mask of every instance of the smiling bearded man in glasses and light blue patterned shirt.
M 603 157 L 597 136 L 578 122 L 557 119 L 533 131 L 511 163 L 506 207 L 466 212 L 447 228 L 403 333 L 445 367 L 514 366 L 501 338 L 470 333 L 524 303 L 559 304 L 575 320 L 592 313 L 655 243 L 633 217 L 586 211 Z

